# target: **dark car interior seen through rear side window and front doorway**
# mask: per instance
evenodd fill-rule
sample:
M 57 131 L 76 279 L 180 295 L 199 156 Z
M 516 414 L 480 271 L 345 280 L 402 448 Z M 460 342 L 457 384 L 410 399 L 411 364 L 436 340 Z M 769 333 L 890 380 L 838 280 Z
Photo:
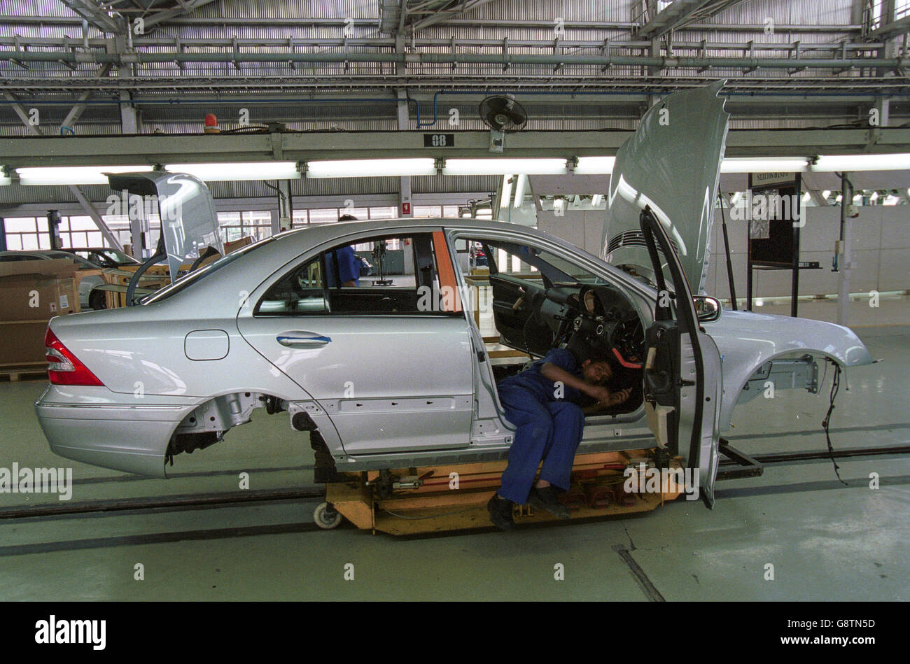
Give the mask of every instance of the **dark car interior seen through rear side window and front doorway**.
M 492 320 L 485 325 L 495 326 L 502 345 L 521 351 L 493 363 L 497 381 L 527 368 L 528 356 L 544 357 L 551 348 L 568 348 L 579 364 L 597 352 L 612 369 L 604 387 L 632 392 L 618 406 L 582 402 L 586 415 L 622 415 L 642 405 L 644 330 L 620 288 L 545 250 L 490 238 L 470 239 L 468 246 L 472 255 L 484 257 L 490 272 Z M 351 260 L 343 256 L 348 249 L 358 261 L 357 286 L 334 277 L 346 274 L 341 265 Z M 427 313 L 420 306 L 427 290 L 439 290 L 429 233 L 369 238 L 333 247 L 288 272 L 268 289 L 255 315 Z

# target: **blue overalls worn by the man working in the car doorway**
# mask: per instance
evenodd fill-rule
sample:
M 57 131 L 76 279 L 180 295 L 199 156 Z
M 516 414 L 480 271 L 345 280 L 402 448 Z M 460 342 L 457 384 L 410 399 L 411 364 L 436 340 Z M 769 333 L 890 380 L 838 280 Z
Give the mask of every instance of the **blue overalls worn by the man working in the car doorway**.
M 530 369 L 504 378 L 496 386 L 506 418 L 518 427 L 499 494 L 519 505 L 528 500 L 541 459 L 541 479 L 563 490 L 569 489 L 575 449 L 584 429 L 584 413 L 581 407 L 571 403 L 581 397 L 581 392 L 562 386 L 562 398 L 557 398 L 556 384 L 541 375 L 544 362 L 581 378 L 575 356 L 565 348 L 553 348 Z

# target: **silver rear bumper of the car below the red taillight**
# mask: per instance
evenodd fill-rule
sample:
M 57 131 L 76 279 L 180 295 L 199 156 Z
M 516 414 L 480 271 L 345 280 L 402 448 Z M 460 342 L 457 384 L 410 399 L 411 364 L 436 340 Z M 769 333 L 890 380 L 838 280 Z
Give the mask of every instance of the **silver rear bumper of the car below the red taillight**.
M 167 444 L 197 403 L 50 385 L 35 401 L 35 413 L 51 451 L 61 457 L 166 478 Z

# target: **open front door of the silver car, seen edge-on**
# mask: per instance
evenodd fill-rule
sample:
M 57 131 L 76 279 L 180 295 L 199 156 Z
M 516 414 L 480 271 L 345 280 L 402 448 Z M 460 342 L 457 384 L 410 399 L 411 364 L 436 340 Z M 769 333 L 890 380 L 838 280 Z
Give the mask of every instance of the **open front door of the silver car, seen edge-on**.
M 686 475 L 687 481 L 698 482 L 703 500 L 713 507 L 722 389 L 720 353 L 698 325 L 679 258 L 650 207 L 642 210 L 640 222 L 658 290 L 654 323 L 645 332 L 648 427 L 660 447 L 671 456 L 682 457 L 692 473 Z

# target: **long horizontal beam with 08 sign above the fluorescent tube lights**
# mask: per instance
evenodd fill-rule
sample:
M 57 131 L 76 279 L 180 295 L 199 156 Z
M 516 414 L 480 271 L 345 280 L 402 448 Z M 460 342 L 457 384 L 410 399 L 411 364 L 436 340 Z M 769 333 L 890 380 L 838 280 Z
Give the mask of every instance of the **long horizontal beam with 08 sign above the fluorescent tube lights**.
M 128 166 L 186 162 L 268 161 L 275 142 L 284 159 L 379 158 L 395 156 L 489 157 L 488 131 L 459 131 L 456 145 L 424 147 L 425 132 L 307 132 L 252 135 L 106 136 L 103 154 L 90 136 L 5 137 L 5 166 Z M 504 156 L 615 155 L 632 131 L 521 131 L 511 134 Z M 727 156 L 814 156 L 867 154 L 868 128 L 732 129 Z M 882 127 L 876 152 L 910 152 L 910 128 Z

